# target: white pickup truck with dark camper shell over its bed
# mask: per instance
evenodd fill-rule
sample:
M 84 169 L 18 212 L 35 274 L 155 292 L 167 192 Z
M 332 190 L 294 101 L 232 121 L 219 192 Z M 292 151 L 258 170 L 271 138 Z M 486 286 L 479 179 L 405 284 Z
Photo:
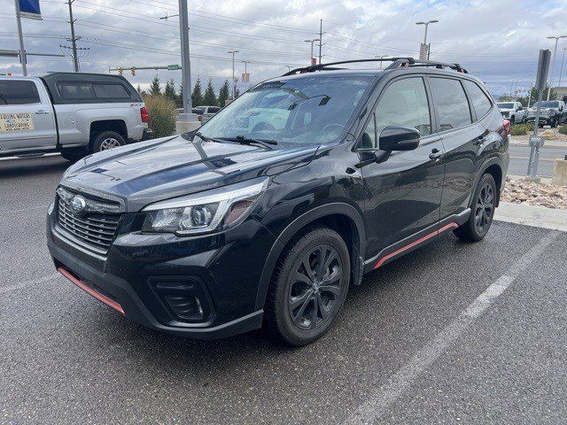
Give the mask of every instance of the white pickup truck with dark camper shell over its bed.
M 0 157 L 59 151 L 76 160 L 151 138 L 148 112 L 119 75 L 0 77 Z

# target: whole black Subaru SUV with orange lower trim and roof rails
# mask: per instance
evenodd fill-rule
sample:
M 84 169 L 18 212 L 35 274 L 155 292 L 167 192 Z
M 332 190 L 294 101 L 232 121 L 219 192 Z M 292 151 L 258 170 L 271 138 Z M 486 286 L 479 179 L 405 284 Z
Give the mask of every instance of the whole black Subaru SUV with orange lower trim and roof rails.
M 482 239 L 509 123 L 457 64 L 300 68 L 196 133 L 71 166 L 47 217 L 58 270 L 145 326 L 196 338 L 268 328 L 307 344 L 349 285 L 444 232 Z

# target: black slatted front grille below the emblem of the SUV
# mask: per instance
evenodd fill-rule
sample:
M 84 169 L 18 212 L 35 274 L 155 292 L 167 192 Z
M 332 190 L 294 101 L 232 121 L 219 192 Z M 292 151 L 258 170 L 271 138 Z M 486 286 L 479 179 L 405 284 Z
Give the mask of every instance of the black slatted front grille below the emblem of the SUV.
M 100 202 L 98 201 L 98 205 Z M 98 254 L 106 254 L 118 229 L 119 214 L 75 214 L 65 199 L 58 199 L 58 226 L 73 242 Z M 65 234 L 63 236 L 66 236 Z

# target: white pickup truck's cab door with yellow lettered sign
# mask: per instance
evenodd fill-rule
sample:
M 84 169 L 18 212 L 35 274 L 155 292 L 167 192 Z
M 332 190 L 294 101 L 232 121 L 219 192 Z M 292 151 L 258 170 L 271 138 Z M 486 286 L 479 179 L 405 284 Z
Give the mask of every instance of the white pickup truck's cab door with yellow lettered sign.
M 42 83 L 0 80 L 0 153 L 54 149 L 55 119 Z

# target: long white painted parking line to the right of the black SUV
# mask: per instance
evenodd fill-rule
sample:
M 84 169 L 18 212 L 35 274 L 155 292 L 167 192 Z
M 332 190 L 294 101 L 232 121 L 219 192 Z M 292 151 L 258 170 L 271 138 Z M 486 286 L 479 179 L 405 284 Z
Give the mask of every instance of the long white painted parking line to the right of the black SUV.
M 534 259 L 555 241 L 561 232 L 552 231 L 543 236 L 530 251 L 524 253 L 506 274 L 503 274 L 496 282 L 493 282 L 482 294 L 478 296 L 457 318 L 452 321 L 447 328 L 444 328 L 437 336 L 425 344 L 412 359 L 400 370 L 392 375 L 387 383 L 370 393 L 369 398 L 356 411 L 351 414 L 346 421 L 346 425 L 371 424 L 377 421 L 388 408 L 423 374 L 431 364 L 439 359 L 462 333 L 472 325 L 488 306 L 498 298 L 518 275 L 530 266 Z

